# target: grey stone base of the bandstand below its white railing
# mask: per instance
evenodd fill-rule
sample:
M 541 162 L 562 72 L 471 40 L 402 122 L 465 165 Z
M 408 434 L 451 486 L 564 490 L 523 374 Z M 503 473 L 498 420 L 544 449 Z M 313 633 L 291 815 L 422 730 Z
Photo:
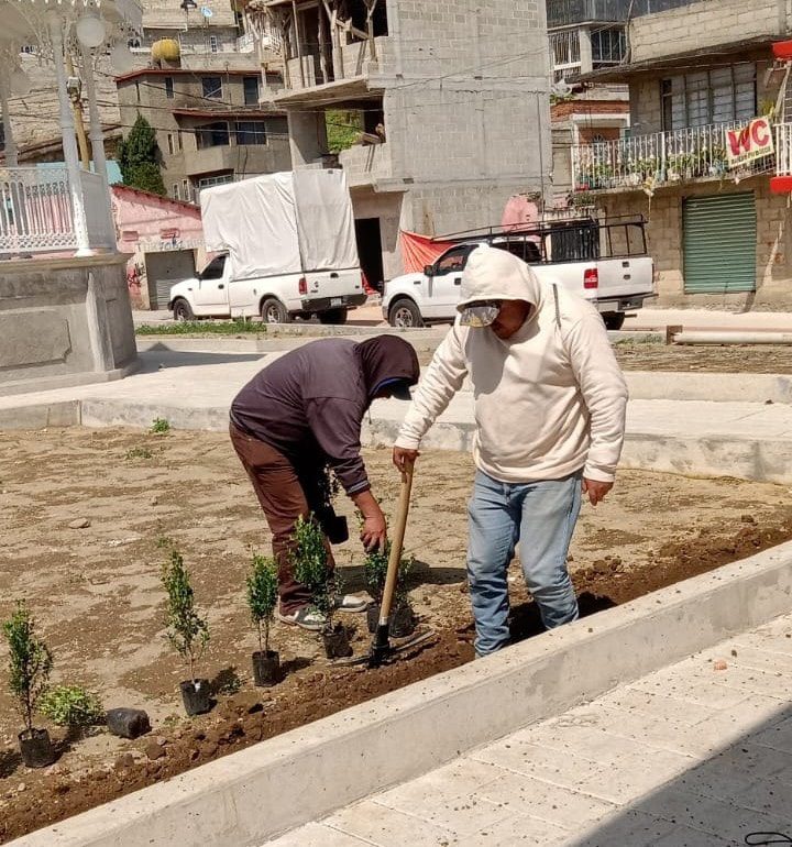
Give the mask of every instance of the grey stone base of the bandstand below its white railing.
M 138 353 L 125 257 L 2 263 L 0 394 L 102 381 Z

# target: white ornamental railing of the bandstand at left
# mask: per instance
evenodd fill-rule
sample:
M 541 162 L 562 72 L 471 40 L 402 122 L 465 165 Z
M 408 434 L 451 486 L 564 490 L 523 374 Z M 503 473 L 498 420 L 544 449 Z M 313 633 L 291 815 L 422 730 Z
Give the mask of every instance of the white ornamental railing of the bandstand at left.
M 80 172 L 91 248 L 112 250 L 116 233 L 105 184 Z M 78 248 L 66 167 L 0 168 L 0 255 L 57 253 Z

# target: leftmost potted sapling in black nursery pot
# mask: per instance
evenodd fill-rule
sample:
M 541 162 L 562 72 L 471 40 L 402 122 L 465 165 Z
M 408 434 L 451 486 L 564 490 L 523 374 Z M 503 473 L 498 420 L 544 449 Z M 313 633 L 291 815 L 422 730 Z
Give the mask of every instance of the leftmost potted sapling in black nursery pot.
M 24 730 L 19 734 L 22 761 L 29 768 L 46 768 L 55 761 L 55 749 L 46 729 L 33 726 L 33 714 L 47 689 L 52 671 L 50 648 L 35 632 L 35 622 L 24 602 L 16 604 L 3 624 L 9 645 L 9 688 L 16 697 Z

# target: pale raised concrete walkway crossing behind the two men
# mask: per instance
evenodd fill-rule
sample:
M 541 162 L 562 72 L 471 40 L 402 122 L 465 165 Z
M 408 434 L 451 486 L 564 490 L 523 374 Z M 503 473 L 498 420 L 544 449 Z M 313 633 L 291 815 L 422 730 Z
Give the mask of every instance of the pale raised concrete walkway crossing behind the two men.
M 234 395 L 267 355 L 150 351 L 141 355 L 143 371 L 122 381 L 0 397 L 0 428 L 82 424 L 145 429 L 162 417 L 177 429 L 221 431 Z M 632 396 L 639 398 L 628 407 L 623 466 L 792 483 L 789 381 L 748 375 L 741 388 L 735 375 L 712 375 L 706 384 L 702 380 L 701 374 L 663 374 L 662 380 L 628 374 Z M 721 389 L 730 402 L 696 399 Z M 741 391 L 752 402 L 736 402 Z M 674 396 L 689 399 L 669 399 Z M 395 400 L 375 403 L 364 420 L 363 442 L 391 446 L 406 409 Z M 473 395 L 461 392 L 425 447 L 470 450 L 474 431 Z

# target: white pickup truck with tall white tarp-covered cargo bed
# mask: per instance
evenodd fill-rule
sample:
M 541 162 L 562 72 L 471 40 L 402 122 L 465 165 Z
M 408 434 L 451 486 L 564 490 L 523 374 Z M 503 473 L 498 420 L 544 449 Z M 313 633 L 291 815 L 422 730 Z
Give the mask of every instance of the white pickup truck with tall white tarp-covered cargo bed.
M 218 255 L 170 288 L 176 320 L 343 323 L 366 301 L 342 170 L 270 174 L 207 188 L 200 200 L 207 250 Z

